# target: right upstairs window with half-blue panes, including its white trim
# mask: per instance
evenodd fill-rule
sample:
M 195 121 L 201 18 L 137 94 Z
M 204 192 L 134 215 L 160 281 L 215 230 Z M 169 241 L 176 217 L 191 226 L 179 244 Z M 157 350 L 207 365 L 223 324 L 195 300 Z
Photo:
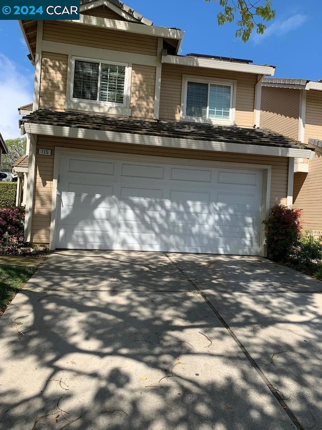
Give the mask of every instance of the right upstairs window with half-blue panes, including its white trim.
M 212 124 L 234 124 L 235 82 L 184 76 L 181 119 Z

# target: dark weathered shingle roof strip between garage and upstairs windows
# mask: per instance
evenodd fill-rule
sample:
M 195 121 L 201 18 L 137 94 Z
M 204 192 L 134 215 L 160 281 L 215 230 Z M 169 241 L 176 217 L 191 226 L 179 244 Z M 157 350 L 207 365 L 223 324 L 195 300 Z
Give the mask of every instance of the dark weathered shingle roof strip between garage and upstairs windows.
M 24 116 L 22 122 L 118 133 L 163 136 L 178 139 L 202 140 L 249 145 L 298 148 L 299 142 L 266 129 L 234 126 L 214 126 L 182 121 L 148 121 L 110 117 L 81 112 L 40 109 Z

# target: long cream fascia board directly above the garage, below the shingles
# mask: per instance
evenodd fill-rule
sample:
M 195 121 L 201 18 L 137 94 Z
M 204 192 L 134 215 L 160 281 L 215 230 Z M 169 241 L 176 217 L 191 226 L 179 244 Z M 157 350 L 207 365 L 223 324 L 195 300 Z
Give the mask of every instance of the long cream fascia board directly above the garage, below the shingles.
M 233 152 L 239 154 L 267 155 L 275 157 L 310 158 L 308 149 L 280 148 L 276 146 L 249 145 L 194 139 L 169 138 L 132 133 L 119 133 L 101 130 L 81 129 L 75 127 L 60 127 L 44 124 L 24 123 L 25 133 L 37 135 L 64 137 L 72 139 L 100 140 L 123 144 L 161 146 L 167 148 L 192 149 L 199 151 Z

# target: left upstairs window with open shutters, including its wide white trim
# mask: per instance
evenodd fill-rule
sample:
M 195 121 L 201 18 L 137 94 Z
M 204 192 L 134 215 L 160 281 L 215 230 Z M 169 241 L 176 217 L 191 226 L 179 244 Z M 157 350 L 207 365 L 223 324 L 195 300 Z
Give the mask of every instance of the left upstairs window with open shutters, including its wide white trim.
M 130 116 L 130 79 L 129 64 L 72 57 L 65 108 Z

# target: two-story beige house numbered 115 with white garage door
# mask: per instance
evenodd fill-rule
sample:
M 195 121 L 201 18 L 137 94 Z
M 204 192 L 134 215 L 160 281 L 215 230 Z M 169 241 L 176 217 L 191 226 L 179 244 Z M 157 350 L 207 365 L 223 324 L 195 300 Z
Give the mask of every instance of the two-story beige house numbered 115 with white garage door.
M 258 129 L 274 67 L 179 55 L 183 32 L 116 0 L 77 21 L 22 21 L 35 64 L 26 240 L 51 250 L 264 255 L 262 221 L 292 201 L 294 157 Z

